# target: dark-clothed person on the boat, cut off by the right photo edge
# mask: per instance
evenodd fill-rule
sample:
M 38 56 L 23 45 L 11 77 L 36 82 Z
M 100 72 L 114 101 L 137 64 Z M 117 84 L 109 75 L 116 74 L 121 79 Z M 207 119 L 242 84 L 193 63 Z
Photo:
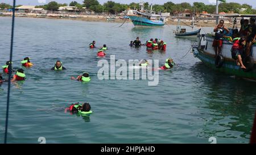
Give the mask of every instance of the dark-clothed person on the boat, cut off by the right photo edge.
M 251 45 L 253 42 L 255 42 L 256 38 L 256 25 L 255 25 L 255 18 L 251 17 L 250 18 L 250 26 L 248 30 L 248 36 L 246 40 L 246 57 L 250 56 L 251 52 Z

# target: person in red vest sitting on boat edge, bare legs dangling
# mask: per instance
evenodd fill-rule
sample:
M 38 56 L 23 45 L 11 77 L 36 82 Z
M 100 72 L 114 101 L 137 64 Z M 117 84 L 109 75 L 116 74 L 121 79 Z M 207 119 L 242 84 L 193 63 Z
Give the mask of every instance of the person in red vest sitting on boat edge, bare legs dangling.
M 245 36 L 236 37 L 233 40 L 234 44 L 231 49 L 232 58 L 236 60 L 238 66 L 240 66 L 242 69 L 246 69 L 242 61 L 243 48 L 246 44 Z

